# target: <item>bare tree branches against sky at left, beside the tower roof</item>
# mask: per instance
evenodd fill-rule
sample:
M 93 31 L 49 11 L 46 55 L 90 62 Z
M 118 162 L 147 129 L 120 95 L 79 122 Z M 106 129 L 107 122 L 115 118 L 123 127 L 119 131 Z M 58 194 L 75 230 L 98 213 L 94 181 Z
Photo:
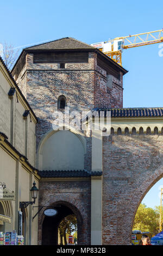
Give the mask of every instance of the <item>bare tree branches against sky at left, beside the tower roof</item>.
M 11 70 L 18 58 L 20 50 L 19 48 L 15 50 L 13 45 L 7 44 L 6 42 L 1 46 L 3 47 L 1 47 L 0 55 L 2 56 L 7 68 Z

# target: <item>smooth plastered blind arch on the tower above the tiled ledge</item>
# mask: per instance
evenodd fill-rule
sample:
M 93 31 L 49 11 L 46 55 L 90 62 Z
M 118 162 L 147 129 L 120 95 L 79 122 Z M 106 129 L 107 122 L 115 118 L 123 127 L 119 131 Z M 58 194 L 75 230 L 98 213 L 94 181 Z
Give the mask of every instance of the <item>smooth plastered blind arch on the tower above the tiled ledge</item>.
M 66 136 L 66 134 L 67 134 L 67 136 Z M 63 136 L 65 136 L 65 138 L 67 138 L 67 142 L 64 145 L 65 146 L 64 149 L 61 150 L 59 142 Z M 69 144 L 68 144 L 68 139 L 69 139 Z M 63 138 L 63 141 L 65 143 L 64 138 Z M 52 157 L 50 156 L 52 154 L 51 148 L 53 147 L 53 142 L 54 142 L 53 150 L 55 151 L 55 153 L 53 154 L 53 157 L 55 158 L 55 155 L 56 155 L 55 160 L 57 162 L 54 164 L 54 166 L 53 166 L 52 162 L 49 163 L 49 161 L 51 161 L 51 160 L 53 162 L 55 162 L 55 160 L 53 160 Z M 56 144 L 56 147 L 55 147 L 55 144 Z M 70 145 L 70 149 L 68 149 L 69 145 Z M 74 147 L 74 149 L 73 149 L 73 147 Z M 48 149 L 46 150 L 46 148 L 48 148 Z M 71 154 L 71 152 L 72 152 L 71 149 L 73 149 L 73 156 Z M 46 151 L 48 153 L 47 156 L 46 156 Z M 56 131 L 49 130 L 48 132 L 46 132 L 45 135 L 42 136 L 39 146 L 37 148 L 36 168 L 39 170 L 42 170 L 42 169 L 84 169 L 85 154 L 86 154 L 86 138 L 82 132 L 77 131 L 77 130 L 72 130 L 72 129 L 66 129 L 66 127 L 64 127 L 63 130 L 61 130 L 61 129 L 58 129 Z M 44 157 L 44 159 L 43 159 L 43 157 Z M 61 159 L 60 159 L 60 157 L 61 157 Z M 64 157 L 66 158 L 65 162 L 64 162 Z M 73 161 L 73 159 L 77 159 L 77 160 Z M 45 163 L 46 160 L 49 163 L 47 165 Z M 42 162 L 44 163 L 44 166 L 43 166 Z

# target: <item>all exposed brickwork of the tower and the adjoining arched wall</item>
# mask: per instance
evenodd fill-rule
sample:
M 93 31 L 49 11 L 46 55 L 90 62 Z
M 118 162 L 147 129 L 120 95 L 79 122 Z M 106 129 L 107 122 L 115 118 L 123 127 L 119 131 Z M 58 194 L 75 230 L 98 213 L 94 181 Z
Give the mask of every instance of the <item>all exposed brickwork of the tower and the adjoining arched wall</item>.
M 60 63 L 34 63 L 34 53 L 27 53 L 26 65 L 18 76 L 17 82 L 38 118 L 36 150 L 39 149 L 42 138 L 53 130 L 53 113 L 58 109 L 58 98 L 61 95 L 66 97 L 66 106 L 69 107 L 70 113 L 72 111 L 81 113 L 97 107 L 123 107 L 123 74 L 113 65 L 109 74 L 106 65 L 102 66 L 102 63 L 106 64 L 106 62 L 103 62 L 102 57 L 101 60 L 98 57 L 97 52 L 90 51 L 88 62 L 65 63 L 65 68 L 60 68 Z M 64 114 L 65 110 L 59 109 L 59 111 Z M 118 114 L 117 118 L 120 117 L 120 119 L 114 120 L 115 123 L 112 125 L 115 135 L 103 137 L 103 245 L 130 245 L 136 210 L 145 194 L 163 176 L 162 116 L 153 114 L 153 119 L 149 120 L 148 124 L 147 118 L 150 119 L 151 114 L 145 117 L 138 112 L 138 110 L 134 112 L 131 121 L 130 116 L 126 118 L 125 114 L 124 116 L 122 113 Z M 116 115 L 112 115 L 112 120 L 114 117 Z M 134 118 L 141 118 L 141 120 L 136 121 Z M 136 135 L 133 132 L 134 121 Z M 126 125 L 125 122 L 128 124 Z M 141 133 L 141 126 L 143 126 L 144 135 L 138 134 Z M 151 127 L 152 135 L 146 134 L 148 126 Z M 156 134 L 155 127 L 158 127 L 156 133 L 159 135 L 154 135 Z M 31 135 L 34 139 L 33 130 Z M 86 142 L 83 166 L 84 169 L 91 171 L 92 162 L 96 158 L 92 157 L 92 135 L 90 131 L 86 131 L 80 136 Z M 30 158 L 32 159 L 32 153 L 30 153 Z M 55 206 L 60 203 L 70 208 L 78 219 L 83 220 L 83 222 L 78 221 L 79 245 L 91 244 L 92 198 L 91 180 L 89 179 L 71 180 L 68 178 L 57 181 L 53 178 L 53 181 L 52 179 L 40 181 L 40 205 Z M 39 213 L 39 245 L 42 244 L 44 220 L 45 216 L 41 210 Z

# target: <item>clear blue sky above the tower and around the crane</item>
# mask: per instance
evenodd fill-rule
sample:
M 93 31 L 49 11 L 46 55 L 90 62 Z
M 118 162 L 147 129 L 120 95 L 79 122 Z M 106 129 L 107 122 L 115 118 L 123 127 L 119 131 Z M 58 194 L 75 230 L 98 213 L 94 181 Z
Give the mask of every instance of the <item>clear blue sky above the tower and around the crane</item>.
M 6 0 L 0 2 L 0 10 L 0 43 L 14 47 L 65 36 L 92 44 L 163 28 L 160 0 Z M 163 107 L 159 51 L 159 44 L 123 51 L 122 64 L 129 71 L 124 76 L 123 107 Z M 154 191 L 157 195 L 158 188 Z M 155 204 L 155 199 L 148 201 Z

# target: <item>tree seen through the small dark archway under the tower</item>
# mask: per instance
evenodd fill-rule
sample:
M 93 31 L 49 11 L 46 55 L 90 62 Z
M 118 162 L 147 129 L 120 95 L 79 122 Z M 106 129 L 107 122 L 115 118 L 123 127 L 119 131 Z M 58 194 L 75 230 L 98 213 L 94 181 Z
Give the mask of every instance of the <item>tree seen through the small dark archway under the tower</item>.
M 66 233 L 71 235 L 72 232 L 77 231 L 77 218 L 75 215 L 66 216 L 59 224 L 60 241 L 62 244 L 62 237 L 64 243 L 67 245 Z

